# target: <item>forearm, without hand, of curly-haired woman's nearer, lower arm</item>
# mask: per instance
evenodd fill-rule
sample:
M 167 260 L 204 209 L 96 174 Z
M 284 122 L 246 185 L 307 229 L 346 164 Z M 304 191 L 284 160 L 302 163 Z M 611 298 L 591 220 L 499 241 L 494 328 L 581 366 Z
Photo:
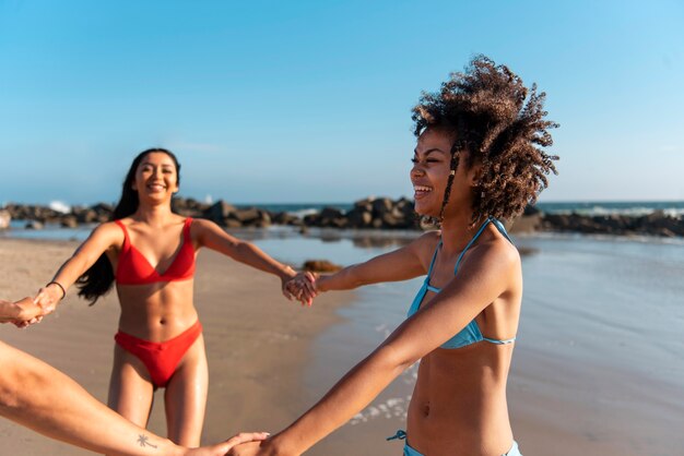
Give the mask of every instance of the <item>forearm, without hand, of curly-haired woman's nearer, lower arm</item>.
M 273 455 L 299 455 L 345 424 L 410 364 L 381 347 L 352 369 L 291 427 L 270 441 Z

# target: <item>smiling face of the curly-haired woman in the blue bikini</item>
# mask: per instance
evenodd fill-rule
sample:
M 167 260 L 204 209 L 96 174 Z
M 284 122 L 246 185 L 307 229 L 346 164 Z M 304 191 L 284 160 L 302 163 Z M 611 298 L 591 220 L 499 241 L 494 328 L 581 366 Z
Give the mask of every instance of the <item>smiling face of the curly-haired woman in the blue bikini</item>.
M 418 137 L 411 168 L 415 212 L 420 215 L 439 217 L 445 190 L 451 172 L 451 146 L 453 135 L 439 129 L 428 128 Z M 461 152 L 462 154 L 462 152 Z M 460 159 L 444 216 L 456 207 L 471 207 L 474 169 L 465 169 Z M 467 205 L 467 206 L 463 206 Z

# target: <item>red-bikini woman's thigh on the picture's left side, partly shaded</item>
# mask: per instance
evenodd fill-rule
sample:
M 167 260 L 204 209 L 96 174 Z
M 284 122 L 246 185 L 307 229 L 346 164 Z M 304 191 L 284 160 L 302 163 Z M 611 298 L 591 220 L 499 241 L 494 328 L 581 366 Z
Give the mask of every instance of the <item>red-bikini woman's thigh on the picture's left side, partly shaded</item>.
M 107 400 L 109 408 L 139 427 L 146 428 L 153 397 L 154 387 L 145 364 L 116 344 Z

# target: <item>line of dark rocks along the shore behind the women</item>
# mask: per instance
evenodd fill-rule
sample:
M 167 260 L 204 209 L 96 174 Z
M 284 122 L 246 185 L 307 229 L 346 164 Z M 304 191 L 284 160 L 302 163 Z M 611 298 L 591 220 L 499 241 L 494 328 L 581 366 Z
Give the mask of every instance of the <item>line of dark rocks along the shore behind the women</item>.
M 174 199 L 174 211 L 180 215 L 207 218 L 224 228 L 268 227 L 290 225 L 306 232 L 308 227 L 338 229 L 422 229 L 421 219 L 413 212 L 413 202 L 404 197 L 367 197 L 354 203 L 350 211 L 325 207 L 304 218 L 285 212 L 270 213 L 257 207 L 235 207 L 224 201 L 214 204 L 193 199 Z M 0 211 L 0 229 L 9 227 L 12 219 L 27 220 L 27 228 L 40 229 L 45 224 L 76 227 L 81 224 L 98 224 L 111 219 L 114 206 L 99 203 L 93 206 L 74 206 L 63 214 L 46 206 L 8 204 Z M 507 224 L 512 232 L 580 232 L 612 236 L 684 237 L 684 218 L 672 217 L 662 211 L 635 217 L 627 215 L 589 216 L 580 214 L 544 214 L 533 206 Z M 429 227 L 424 227 L 429 228 Z

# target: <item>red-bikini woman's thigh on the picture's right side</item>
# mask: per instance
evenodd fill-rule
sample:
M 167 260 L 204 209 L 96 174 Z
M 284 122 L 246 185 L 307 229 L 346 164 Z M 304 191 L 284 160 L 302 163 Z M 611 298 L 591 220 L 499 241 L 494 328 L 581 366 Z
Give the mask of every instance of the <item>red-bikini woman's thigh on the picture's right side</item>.
M 186 351 L 166 385 L 168 439 L 182 446 L 199 446 L 204 423 L 209 370 L 204 338 L 200 335 Z

